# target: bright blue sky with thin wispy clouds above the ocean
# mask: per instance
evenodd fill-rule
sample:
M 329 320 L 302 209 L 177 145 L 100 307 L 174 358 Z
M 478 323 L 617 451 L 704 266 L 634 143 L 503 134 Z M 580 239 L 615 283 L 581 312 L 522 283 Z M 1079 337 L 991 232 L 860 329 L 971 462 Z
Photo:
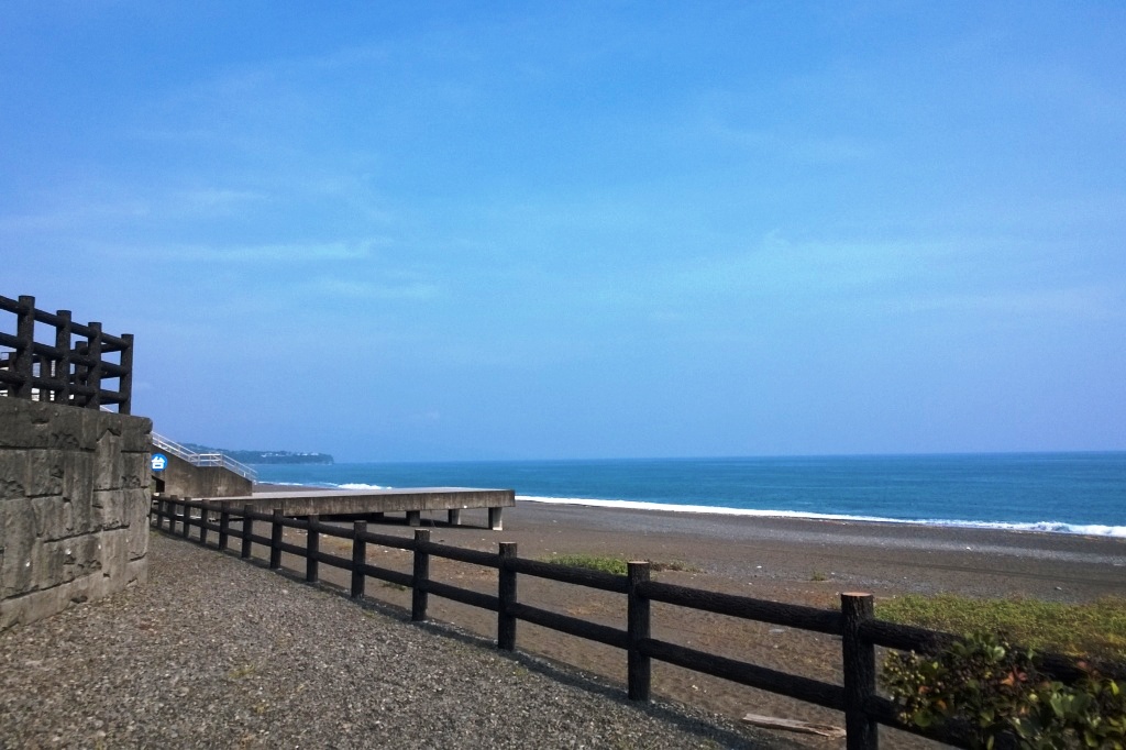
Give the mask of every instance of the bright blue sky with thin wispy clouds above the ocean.
M 1126 6 L 0 6 L 0 294 L 338 461 L 1126 449 Z

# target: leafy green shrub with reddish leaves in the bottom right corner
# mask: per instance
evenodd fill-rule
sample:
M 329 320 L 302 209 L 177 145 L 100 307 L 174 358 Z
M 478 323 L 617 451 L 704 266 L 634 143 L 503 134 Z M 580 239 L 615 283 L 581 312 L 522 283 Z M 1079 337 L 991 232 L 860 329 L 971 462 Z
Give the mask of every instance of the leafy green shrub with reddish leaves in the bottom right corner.
M 971 747 L 1011 733 L 1021 748 L 1126 748 L 1126 693 L 1094 672 L 1073 686 L 1048 679 L 1036 655 L 1003 635 L 975 634 L 936 654 L 894 653 L 884 685 L 900 718 L 963 727 Z

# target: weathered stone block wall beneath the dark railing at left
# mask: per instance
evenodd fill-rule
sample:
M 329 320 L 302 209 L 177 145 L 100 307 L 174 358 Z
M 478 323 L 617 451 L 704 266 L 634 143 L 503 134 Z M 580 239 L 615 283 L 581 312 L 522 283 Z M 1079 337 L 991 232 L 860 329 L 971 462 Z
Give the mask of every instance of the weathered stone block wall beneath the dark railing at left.
M 146 580 L 150 432 L 0 398 L 0 631 Z

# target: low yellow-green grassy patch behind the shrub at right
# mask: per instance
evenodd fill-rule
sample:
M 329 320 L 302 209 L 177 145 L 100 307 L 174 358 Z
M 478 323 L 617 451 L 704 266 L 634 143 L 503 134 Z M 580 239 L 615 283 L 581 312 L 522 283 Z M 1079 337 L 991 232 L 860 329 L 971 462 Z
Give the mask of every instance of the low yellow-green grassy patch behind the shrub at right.
M 968 599 L 909 595 L 879 601 L 876 616 L 957 635 L 1002 631 L 1037 651 L 1121 660 L 1126 653 L 1126 598 L 1070 605 L 1035 599 Z

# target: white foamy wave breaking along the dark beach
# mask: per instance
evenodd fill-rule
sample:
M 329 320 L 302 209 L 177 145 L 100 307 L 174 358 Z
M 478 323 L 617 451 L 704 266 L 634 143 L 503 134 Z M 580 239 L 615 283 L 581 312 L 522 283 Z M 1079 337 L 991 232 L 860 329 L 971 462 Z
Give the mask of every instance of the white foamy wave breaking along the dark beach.
M 1070 524 L 1065 521 L 980 521 L 942 518 L 883 518 L 879 516 L 849 516 L 846 514 L 815 514 L 799 510 L 760 510 L 753 508 L 725 508 L 723 506 L 682 506 L 664 502 L 642 502 L 637 500 L 591 500 L 588 498 L 543 498 L 527 494 L 516 495 L 517 500 L 547 502 L 570 506 L 592 506 L 597 508 L 623 508 L 627 510 L 667 510 L 671 512 L 706 514 L 712 516 L 756 516 L 760 518 L 806 518 L 811 520 L 847 520 L 874 524 L 921 524 L 923 526 L 953 526 L 956 528 L 995 528 L 1009 532 L 1045 532 L 1049 534 L 1079 534 L 1084 536 L 1111 536 L 1126 538 L 1126 526 L 1101 524 Z

